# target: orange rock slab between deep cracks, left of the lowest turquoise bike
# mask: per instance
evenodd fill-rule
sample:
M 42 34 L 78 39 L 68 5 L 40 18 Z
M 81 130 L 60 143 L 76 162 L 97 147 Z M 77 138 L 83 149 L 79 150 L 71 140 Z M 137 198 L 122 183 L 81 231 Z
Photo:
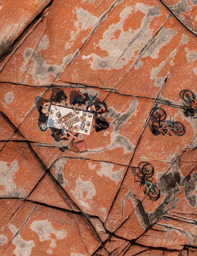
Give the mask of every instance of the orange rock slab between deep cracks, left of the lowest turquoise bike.
M 59 157 L 50 168 L 79 208 L 101 220 L 107 217 L 125 171 L 118 164 L 67 157 Z

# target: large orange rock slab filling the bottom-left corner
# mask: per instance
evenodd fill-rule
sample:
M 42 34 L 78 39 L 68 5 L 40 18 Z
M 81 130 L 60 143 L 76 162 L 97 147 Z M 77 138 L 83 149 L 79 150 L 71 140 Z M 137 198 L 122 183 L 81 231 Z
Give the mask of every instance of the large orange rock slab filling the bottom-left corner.
M 16 200 L 15 200 L 16 201 Z M 9 200 L 4 200 L 9 210 Z M 13 201 L 11 201 L 13 205 Z M 15 206 L 15 205 L 14 205 Z M 13 207 L 12 207 L 13 209 Z M 15 207 L 16 209 L 16 207 Z M 2 255 L 85 255 L 100 246 L 98 234 L 82 214 L 24 202 L 3 226 Z

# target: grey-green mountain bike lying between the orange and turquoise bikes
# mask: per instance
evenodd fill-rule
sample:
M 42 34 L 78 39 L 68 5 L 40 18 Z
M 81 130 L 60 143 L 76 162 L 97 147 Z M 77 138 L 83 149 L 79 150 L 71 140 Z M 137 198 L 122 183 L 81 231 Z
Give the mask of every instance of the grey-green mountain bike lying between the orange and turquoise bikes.
M 176 121 L 168 121 L 168 123 L 166 124 L 161 124 L 161 122 L 164 122 L 164 120 L 167 117 L 167 114 L 165 112 L 164 109 L 162 108 L 155 108 L 152 112 L 152 117 L 153 119 L 159 123 L 159 127 L 158 130 L 160 131 L 164 131 L 164 133 L 167 133 L 169 131 L 169 135 L 171 135 L 171 130 L 174 132 L 174 134 L 176 134 L 177 136 L 183 136 L 186 132 L 185 126 L 180 123 L 180 122 L 176 122 Z M 167 126 L 169 128 L 167 128 Z

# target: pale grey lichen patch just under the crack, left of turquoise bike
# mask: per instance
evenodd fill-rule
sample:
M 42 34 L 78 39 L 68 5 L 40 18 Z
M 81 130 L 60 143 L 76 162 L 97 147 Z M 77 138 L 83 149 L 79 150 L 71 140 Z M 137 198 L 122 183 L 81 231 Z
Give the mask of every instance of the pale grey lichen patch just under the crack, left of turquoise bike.
M 120 168 L 117 171 L 113 171 L 114 164 L 112 163 L 101 162 L 100 165 L 101 168 L 100 170 L 97 171 L 97 174 L 99 176 L 109 177 L 111 180 L 115 181 L 116 184 L 118 184 L 122 180 L 124 168 Z

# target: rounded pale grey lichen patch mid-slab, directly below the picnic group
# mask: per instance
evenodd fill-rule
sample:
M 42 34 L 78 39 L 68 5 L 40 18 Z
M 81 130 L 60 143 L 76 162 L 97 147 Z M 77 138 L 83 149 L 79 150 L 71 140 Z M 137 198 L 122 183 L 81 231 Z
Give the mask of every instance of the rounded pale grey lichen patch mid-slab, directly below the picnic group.
M 75 190 L 70 191 L 77 200 L 92 199 L 96 195 L 94 184 L 91 181 L 76 180 Z

